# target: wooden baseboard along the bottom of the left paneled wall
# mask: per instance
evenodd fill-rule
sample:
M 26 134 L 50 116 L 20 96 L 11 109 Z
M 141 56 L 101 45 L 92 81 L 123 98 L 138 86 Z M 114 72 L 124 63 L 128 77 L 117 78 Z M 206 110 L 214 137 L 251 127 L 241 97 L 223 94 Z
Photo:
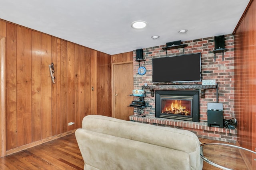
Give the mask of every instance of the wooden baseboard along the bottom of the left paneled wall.
M 22 150 L 25 150 L 25 149 L 28 149 L 28 148 L 31 148 L 31 147 L 35 147 L 37 145 L 41 145 L 41 144 L 46 143 L 46 142 L 50 142 L 50 141 L 52 141 L 54 139 L 58 139 L 60 137 L 66 136 L 66 135 L 70 135 L 70 134 L 74 133 L 75 131 L 76 131 L 76 129 L 71 130 L 71 131 L 67 131 L 67 132 L 64 132 L 64 133 L 61 133 L 59 135 L 48 137 L 48 138 L 42 139 L 40 141 L 32 142 L 32 143 L 29 143 L 27 145 L 23 145 L 23 146 L 14 148 L 14 149 L 6 150 L 6 156 L 10 155 L 10 154 L 13 154 L 13 153 L 16 153 L 16 152 L 19 152 L 19 151 L 22 151 Z

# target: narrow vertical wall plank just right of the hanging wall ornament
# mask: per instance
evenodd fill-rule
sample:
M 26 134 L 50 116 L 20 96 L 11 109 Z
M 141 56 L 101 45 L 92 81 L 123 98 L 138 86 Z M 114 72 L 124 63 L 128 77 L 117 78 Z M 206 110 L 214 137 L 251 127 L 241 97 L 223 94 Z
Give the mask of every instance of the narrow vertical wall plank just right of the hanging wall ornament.
M 51 113 L 52 113 L 52 135 L 57 135 L 57 86 L 58 81 L 56 79 L 57 71 L 58 71 L 58 64 L 57 64 L 57 38 L 52 37 L 52 59 L 51 62 L 54 64 L 54 77 L 55 77 L 55 84 L 52 84 L 52 107 L 51 107 Z M 50 69 L 49 69 L 50 72 Z

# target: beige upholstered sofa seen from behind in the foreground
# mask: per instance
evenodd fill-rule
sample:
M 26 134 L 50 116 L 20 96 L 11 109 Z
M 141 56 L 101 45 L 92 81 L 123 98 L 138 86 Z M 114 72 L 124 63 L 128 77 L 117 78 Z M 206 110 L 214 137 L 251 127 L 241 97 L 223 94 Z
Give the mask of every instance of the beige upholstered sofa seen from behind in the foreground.
M 85 170 L 202 170 L 190 131 L 88 115 L 75 135 Z

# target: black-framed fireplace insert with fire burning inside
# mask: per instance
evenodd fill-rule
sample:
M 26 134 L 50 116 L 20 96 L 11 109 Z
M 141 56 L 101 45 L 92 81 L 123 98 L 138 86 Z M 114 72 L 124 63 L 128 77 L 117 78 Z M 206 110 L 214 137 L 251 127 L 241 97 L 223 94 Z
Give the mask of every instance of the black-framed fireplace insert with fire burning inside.
M 199 122 L 199 90 L 156 90 L 155 117 Z

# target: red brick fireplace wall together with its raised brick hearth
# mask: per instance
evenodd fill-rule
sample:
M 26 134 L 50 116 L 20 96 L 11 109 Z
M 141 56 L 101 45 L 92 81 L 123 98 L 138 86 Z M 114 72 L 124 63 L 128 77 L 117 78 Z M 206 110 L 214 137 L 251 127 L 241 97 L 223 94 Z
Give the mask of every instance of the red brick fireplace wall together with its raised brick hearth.
M 228 49 L 224 53 L 224 61 L 222 61 L 222 53 L 216 53 L 216 61 L 214 61 L 214 37 L 207 37 L 202 39 L 195 39 L 191 41 L 184 41 L 187 47 L 184 48 L 184 54 L 188 53 L 201 53 L 202 63 L 202 80 L 215 79 L 218 83 L 218 102 L 223 104 L 224 119 L 231 119 L 235 117 L 234 113 L 234 39 L 233 35 L 225 35 L 225 47 Z M 136 62 L 136 50 L 134 50 L 134 89 L 142 89 L 144 84 L 148 86 L 154 86 L 152 83 L 152 58 L 175 56 L 183 54 L 182 49 L 173 49 L 164 51 L 162 47 L 166 45 L 149 47 L 143 49 L 143 57 L 146 61 L 146 74 L 139 75 L 138 67 L 139 63 Z M 167 53 L 166 53 L 167 52 Z M 216 88 L 202 88 L 201 82 L 195 83 L 168 83 L 160 84 L 161 88 L 146 88 L 147 97 L 145 100 L 150 107 L 144 109 L 146 117 L 138 117 L 137 110 L 134 108 L 134 115 L 129 117 L 130 121 L 137 121 L 141 123 L 148 123 L 159 126 L 175 127 L 179 129 L 186 129 L 194 132 L 198 137 L 206 139 L 214 139 L 219 141 L 236 142 L 236 129 L 230 130 L 218 127 L 207 126 L 207 103 L 217 102 Z M 159 85 L 159 84 L 158 84 Z M 192 88 L 176 88 L 176 86 L 193 86 Z M 164 87 L 168 88 L 164 88 Z M 169 88 L 169 86 L 171 86 Z M 144 86 L 145 87 L 145 86 Z M 159 86 L 157 86 L 159 87 Z M 199 88 L 198 88 L 199 87 Z M 199 121 L 187 121 L 178 119 L 169 119 L 156 116 L 156 110 L 158 107 L 156 104 L 156 91 L 158 90 L 199 90 Z M 152 95 L 153 94 L 153 95 Z M 204 94 L 204 98 L 202 98 Z M 136 99 L 134 99 L 136 100 Z M 239 122 L 238 122 L 239 123 Z

